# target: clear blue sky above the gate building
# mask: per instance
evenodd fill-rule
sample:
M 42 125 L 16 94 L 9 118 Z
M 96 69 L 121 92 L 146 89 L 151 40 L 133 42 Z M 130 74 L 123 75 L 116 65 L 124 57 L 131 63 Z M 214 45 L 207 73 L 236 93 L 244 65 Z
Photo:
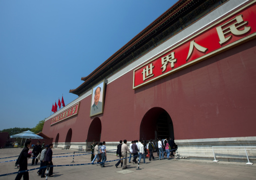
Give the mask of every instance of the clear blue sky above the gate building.
M 81 77 L 176 2 L 0 0 L 0 130 L 32 128 L 62 94 L 78 98 Z

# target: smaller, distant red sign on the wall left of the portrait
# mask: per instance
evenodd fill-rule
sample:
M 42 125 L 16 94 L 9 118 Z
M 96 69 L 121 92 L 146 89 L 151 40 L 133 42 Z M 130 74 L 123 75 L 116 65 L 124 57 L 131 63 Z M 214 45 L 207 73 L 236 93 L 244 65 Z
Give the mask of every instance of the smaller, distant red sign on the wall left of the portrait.
M 55 124 L 57 122 L 60 122 L 60 121 L 62 121 L 64 119 L 67 119 L 67 118 L 72 117 L 74 115 L 77 115 L 78 111 L 79 111 L 79 105 L 80 105 L 80 102 L 78 102 L 77 104 L 75 104 L 74 106 L 70 107 L 69 109 L 67 109 L 65 111 L 62 111 L 58 115 L 56 115 L 53 118 L 51 118 L 50 125 Z

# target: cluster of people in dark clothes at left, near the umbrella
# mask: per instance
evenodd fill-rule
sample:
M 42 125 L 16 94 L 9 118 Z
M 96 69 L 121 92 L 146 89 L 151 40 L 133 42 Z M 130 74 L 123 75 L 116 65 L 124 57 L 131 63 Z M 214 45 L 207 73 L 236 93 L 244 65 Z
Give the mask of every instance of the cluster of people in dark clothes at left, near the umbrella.
M 33 157 L 31 165 L 34 165 L 34 163 L 37 164 L 39 159 L 41 162 L 40 167 L 47 166 L 47 165 L 53 165 L 52 150 L 51 150 L 53 147 L 53 144 L 44 146 L 44 143 L 43 143 L 41 146 L 40 141 L 37 141 L 37 144 L 34 146 L 34 149 L 32 152 L 29 151 L 29 148 L 31 147 L 31 145 L 32 145 L 31 140 L 27 140 L 25 142 L 24 148 L 21 151 L 21 153 L 16 161 L 16 165 L 19 165 L 20 169 L 19 169 L 19 172 L 18 172 L 15 180 L 20 180 L 22 176 L 23 176 L 24 180 L 29 180 L 28 171 L 25 171 L 25 172 L 20 172 L 20 171 L 28 170 L 28 159 L 30 157 Z M 41 175 L 41 177 L 43 178 L 43 177 L 45 177 L 45 170 L 46 170 L 46 167 L 40 168 L 37 171 L 37 174 Z M 53 174 L 53 167 L 50 167 L 48 176 L 52 176 L 52 174 Z

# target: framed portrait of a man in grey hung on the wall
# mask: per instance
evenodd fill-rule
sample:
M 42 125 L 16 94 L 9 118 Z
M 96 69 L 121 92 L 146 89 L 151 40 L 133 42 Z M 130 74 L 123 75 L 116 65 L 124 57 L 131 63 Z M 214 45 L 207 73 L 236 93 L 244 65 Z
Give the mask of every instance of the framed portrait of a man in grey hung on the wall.
M 103 113 L 103 104 L 104 104 L 103 100 L 104 100 L 104 92 L 105 92 L 104 89 L 105 89 L 104 81 L 96 85 L 92 89 L 90 117 Z

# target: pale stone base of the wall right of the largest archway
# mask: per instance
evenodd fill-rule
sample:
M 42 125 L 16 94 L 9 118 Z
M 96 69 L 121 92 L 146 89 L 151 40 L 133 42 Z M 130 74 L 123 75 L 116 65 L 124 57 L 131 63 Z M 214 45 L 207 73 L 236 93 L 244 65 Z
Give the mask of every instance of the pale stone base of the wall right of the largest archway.
M 175 143 L 178 145 L 177 152 L 180 158 L 189 159 L 214 160 L 212 146 L 225 146 L 217 147 L 218 150 L 214 150 L 216 160 L 232 162 L 248 162 L 245 149 L 242 148 L 241 146 L 254 146 L 246 148 L 254 150 L 246 151 L 249 157 L 249 161 L 256 163 L 256 136 L 209 139 L 184 139 L 175 140 Z M 214 147 L 214 149 L 217 148 Z

